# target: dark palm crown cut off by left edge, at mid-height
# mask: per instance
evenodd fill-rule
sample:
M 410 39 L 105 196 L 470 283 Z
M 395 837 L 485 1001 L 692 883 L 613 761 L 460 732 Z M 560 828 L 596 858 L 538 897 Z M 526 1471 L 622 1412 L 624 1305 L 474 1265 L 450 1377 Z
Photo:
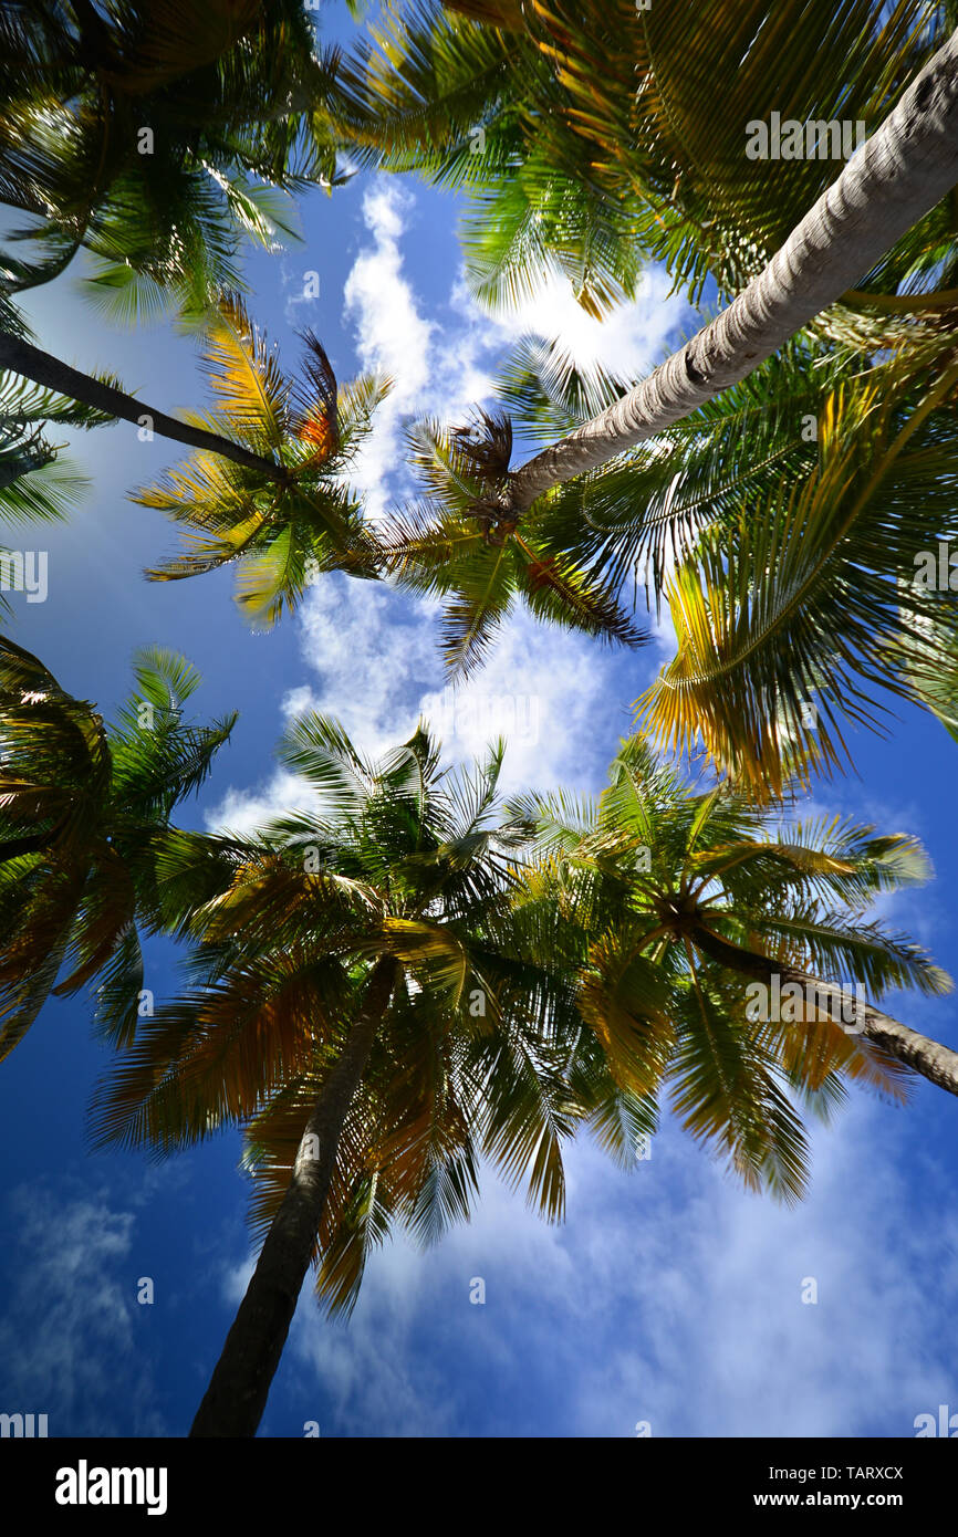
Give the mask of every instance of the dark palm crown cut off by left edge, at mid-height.
M 98 978 L 97 1025 L 115 1042 L 146 1004 L 138 934 L 158 924 L 157 848 L 235 715 L 183 722 L 200 676 L 171 652 L 137 653 L 134 676 L 138 692 L 108 727 L 0 638 L 0 1057 L 51 990 L 69 996 Z

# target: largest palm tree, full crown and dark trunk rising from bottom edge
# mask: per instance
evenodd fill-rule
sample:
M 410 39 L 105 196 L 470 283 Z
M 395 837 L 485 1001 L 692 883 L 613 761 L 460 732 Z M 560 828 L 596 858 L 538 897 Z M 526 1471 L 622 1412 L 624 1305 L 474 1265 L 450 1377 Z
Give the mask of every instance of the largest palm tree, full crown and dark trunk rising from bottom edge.
M 557 1219 L 574 1125 L 592 1117 L 623 1153 L 647 1124 L 580 1044 L 549 913 L 511 911 L 501 752 L 452 775 L 420 727 L 371 764 L 306 716 L 280 756 L 315 816 L 166 850 L 168 921 L 197 945 L 200 985 L 146 1021 L 94 1125 L 160 1151 L 248 1128 L 266 1236 L 192 1436 L 255 1432 L 311 1256 L 348 1305 L 394 1217 L 434 1237 L 467 1214 L 480 1156 Z

